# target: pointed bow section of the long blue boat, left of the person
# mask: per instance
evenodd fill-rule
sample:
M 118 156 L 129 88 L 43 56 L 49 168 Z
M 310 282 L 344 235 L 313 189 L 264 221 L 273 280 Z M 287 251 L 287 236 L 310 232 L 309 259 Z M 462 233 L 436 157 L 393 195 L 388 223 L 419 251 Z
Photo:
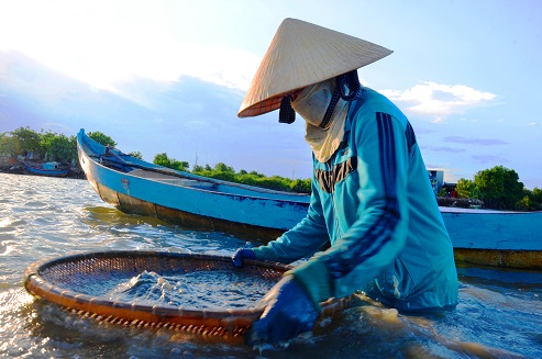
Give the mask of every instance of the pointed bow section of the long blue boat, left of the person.
M 79 162 L 101 199 L 124 213 L 185 228 L 276 238 L 307 214 L 309 197 L 176 171 L 102 146 L 81 130 Z

